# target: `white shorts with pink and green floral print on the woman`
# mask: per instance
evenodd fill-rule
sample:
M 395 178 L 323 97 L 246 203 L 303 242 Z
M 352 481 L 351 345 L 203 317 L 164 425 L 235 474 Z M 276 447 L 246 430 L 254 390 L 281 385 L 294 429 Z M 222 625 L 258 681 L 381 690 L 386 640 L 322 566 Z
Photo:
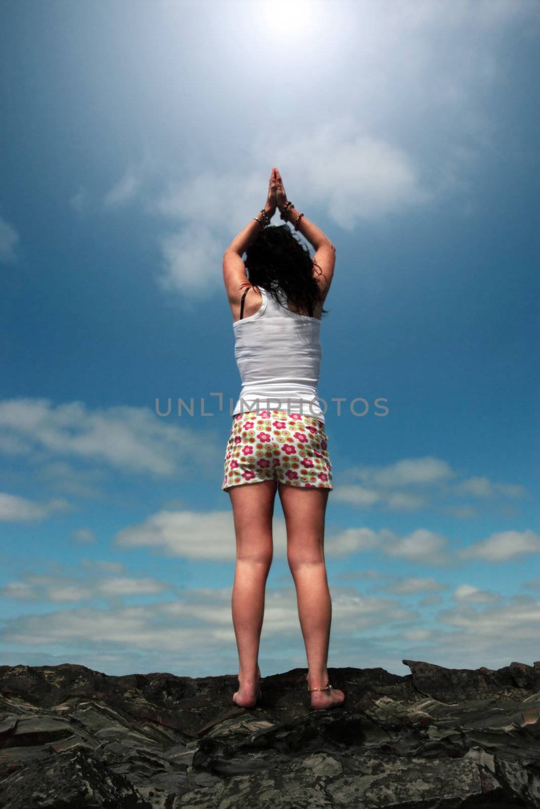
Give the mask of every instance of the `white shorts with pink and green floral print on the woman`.
M 287 410 L 233 416 L 221 488 L 269 480 L 334 489 L 324 421 Z

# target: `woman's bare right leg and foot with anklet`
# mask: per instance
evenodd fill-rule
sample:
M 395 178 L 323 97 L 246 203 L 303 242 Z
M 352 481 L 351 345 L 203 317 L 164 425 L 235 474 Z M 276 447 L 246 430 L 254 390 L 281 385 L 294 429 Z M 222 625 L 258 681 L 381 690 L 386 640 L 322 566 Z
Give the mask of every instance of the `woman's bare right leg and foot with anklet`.
M 325 513 L 329 489 L 304 489 L 279 483 L 287 525 L 287 559 L 296 586 L 298 615 L 308 658 L 309 688 L 328 684 L 328 647 L 332 601 L 326 578 Z M 313 708 L 340 705 L 338 688 L 311 694 Z

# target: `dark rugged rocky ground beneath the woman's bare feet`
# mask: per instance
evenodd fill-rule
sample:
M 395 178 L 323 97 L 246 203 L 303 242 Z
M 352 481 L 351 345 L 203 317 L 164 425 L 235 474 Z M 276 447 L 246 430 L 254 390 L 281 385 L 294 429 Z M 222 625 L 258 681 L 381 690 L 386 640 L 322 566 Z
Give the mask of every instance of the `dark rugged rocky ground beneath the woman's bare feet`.
M 311 709 L 305 670 L 263 677 L 108 676 L 0 667 L 6 809 L 540 807 L 540 661 L 329 669 L 342 707 Z

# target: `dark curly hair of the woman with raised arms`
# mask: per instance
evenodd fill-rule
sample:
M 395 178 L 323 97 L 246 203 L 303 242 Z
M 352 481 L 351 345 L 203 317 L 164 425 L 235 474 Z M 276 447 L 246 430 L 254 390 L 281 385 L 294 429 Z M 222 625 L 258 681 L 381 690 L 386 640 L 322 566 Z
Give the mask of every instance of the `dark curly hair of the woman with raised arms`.
M 320 265 L 312 258 L 306 244 L 297 239 L 288 225 L 265 227 L 249 246 L 244 258 L 249 282 L 263 286 L 275 301 L 283 306 L 276 288 L 283 290 L 287 303 L 297 311 L 308 311 L 313 316 L 316 303 L 321 302 L 321 288 L 313 276 L 313 267 Z M 321 310 L 321 317 L 328 310 Z

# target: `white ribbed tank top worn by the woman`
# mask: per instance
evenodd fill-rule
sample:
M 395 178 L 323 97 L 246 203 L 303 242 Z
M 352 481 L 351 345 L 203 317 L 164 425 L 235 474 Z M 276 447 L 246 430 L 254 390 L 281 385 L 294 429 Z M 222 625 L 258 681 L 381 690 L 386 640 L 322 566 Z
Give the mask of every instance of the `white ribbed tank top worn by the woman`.
M 261 308 L 236 320 L 235 358 L 242 388 L 232 414 L 285 410 L 325 421 L 317 400 L 321 320 L 285 309 L 264 287 Z M 283 290 L 279 298 L 287 305 Z M 281 402 L 281 404 L 280 404 Z

